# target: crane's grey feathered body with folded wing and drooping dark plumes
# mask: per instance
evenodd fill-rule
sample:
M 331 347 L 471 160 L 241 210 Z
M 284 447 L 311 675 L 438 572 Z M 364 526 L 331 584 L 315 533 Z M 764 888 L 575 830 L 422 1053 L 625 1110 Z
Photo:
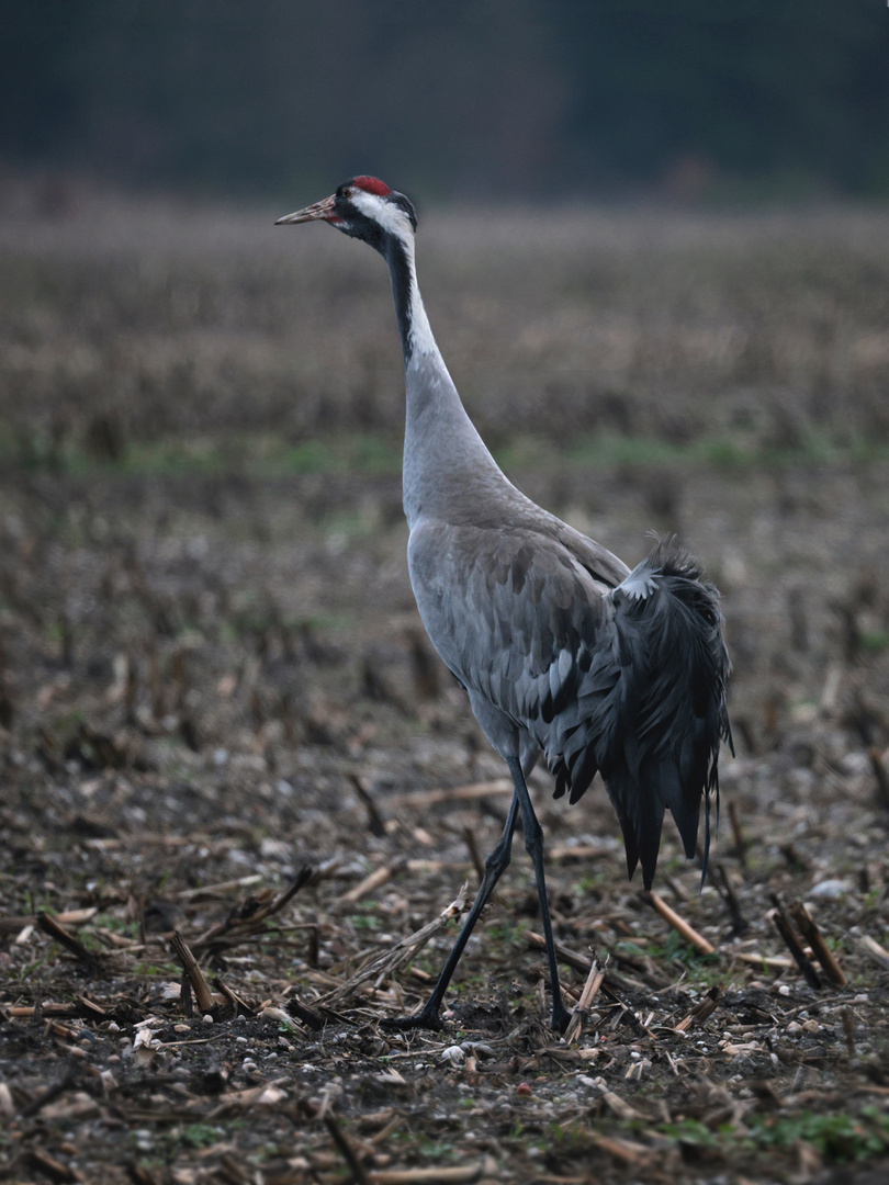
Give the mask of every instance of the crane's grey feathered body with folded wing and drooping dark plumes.
M 730 741 L 718 595 L 676 547 L 631 574 L 557 519 L 542 524 L 415 527 L 417 604 L 495 748 L 532 742 L 571 802 L 602 774 L 647 888 L 667 806 L 693 854 Z

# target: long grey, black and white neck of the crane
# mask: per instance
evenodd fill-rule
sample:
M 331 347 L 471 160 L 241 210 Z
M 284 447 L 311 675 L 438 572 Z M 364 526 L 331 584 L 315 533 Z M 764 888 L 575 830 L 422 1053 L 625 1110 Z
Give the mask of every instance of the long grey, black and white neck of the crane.
M 441 357 L 417 286 L 412 239 L 394 237 L 384 254 L 404 351 L 404 512 L 411 527 L 421 518 L 468 521 L 492 498 L 518 492 L 467 416 Z

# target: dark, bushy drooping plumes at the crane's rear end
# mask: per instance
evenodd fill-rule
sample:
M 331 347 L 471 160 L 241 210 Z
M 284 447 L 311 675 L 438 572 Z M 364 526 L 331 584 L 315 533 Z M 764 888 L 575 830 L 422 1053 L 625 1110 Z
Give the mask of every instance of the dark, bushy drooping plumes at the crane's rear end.
M 608 594 L 613 611 L 583 688 L 586 728 L 554 762 L 557 793 L 576 801 L 601 771 L 620 820 L 632 877 L 650 889 L 670 808 L 685 854 L 695 854 L 702 799 L 718 811 L 718 754 L 731 744 L 725 710 L 730 662 L 718 592 L 673 540 Z M 578 735 L 580 734 L 580 735 Z

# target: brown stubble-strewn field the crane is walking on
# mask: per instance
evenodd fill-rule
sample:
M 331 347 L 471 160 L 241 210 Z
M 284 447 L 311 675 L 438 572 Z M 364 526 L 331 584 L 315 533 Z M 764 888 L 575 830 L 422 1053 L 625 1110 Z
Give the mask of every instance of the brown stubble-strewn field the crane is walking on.
M 571 1006 L 605 971 L 564 1039 L 520 844 L 442 1031 L 379 1025 L 510 793 L 411 600 L 379 261 L 287 204 L 0 203 L 0 1177 L 885 1179 L 887 216 L 421 218 L 513 480 L 723 594 L 703 891 L 532 777 Z

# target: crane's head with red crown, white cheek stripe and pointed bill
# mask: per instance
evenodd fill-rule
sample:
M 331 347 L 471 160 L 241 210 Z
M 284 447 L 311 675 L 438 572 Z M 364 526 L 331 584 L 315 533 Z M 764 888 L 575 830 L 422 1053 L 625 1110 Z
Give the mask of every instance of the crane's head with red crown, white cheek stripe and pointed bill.
M 410 201 L 376 177 L 353 177 L 330 198 L 286 214 L 275 225 L 319 220 L 351 238 L 364 239 L 383 255 L 392 242 L 407 245 L 417 229 L 417 216 Z

